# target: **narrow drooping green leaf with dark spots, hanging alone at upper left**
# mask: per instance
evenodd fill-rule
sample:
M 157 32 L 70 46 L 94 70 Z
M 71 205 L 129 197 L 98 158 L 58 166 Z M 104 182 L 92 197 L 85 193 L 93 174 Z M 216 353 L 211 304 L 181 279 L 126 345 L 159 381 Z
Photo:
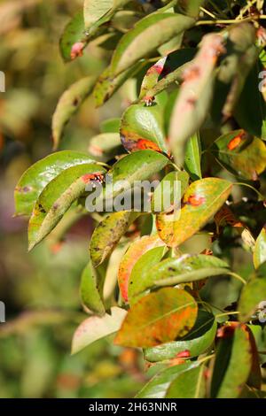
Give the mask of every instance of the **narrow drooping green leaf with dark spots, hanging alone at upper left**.
M 82 78 L 74 82 L 60 97 L 51 122 L 54 149 L 59 146 L 66 123 L 77 112 L 83 101 L 90 96 L 94 82 L 95 78 L 92 76 Z

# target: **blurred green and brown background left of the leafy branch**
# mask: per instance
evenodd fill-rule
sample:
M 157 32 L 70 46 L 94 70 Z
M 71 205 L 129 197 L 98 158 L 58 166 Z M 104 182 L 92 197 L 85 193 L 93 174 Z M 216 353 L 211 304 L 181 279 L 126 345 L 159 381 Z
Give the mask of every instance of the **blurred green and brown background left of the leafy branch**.
M 0 1 L 0 397 L 132 397 L 143 384 L 136 351 L 110 340 L 70 355 L 74 329 L 86 315 L 79 300 L 92 224 L 86 218 L 60 245 L 27 254 L 27 219 L 12 218 L 13 189 L 27 166 L 51 153 L 51 116 L 59 96 L 84 75 L 101 73 L 110 52 L 91 44 L 64 64 L 59 37 L 82 7 L 72 0 Z M 89 98 L 66 128 L 60 150 L 84 150 L 101 120 L 127 104 L 121 89 L 104 109 Z

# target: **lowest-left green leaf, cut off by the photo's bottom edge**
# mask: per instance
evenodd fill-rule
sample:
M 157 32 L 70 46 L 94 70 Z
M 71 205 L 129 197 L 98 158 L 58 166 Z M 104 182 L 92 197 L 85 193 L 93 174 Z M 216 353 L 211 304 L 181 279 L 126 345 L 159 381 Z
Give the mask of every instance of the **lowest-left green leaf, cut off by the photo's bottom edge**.
M 166 395 L 169 385 L 176 377 L 184 372 L 199 366 L 197 362 L 184 363 L 179 366 L 172 366 L 154 375 L 143 389 L 137 393 L 137 398 L 163 398 Z

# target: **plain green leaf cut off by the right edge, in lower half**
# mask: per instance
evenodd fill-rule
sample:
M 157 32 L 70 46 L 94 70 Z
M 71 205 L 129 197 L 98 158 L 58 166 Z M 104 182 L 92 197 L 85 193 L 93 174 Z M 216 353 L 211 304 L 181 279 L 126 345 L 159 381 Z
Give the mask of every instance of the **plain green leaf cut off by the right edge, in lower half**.
M 246 322 L 254 314 L 259 304 L 265 301 L 266 279 L 255 278 L 248 281 L 239 298 L 239 320 Z

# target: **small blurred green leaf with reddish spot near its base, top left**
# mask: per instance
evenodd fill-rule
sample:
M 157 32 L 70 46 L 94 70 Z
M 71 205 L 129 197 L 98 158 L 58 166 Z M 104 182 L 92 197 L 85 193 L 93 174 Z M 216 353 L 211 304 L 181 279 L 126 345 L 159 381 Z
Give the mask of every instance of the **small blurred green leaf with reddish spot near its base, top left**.
M 79 44 L 82 48 L 85 46 L 85 43 L 82 43 L 82 38 L 84 38 L 85 27 L 83 20 L 83 12 L 77 12 L 74 15 L 74 18 L 71 19 L 60 38 L 59 47 L 62 58 L 68 62 L 74 59 L 72 55 L 72 48 L 74 44 Z M 82 46 L 83 44 L 83 46 Z

